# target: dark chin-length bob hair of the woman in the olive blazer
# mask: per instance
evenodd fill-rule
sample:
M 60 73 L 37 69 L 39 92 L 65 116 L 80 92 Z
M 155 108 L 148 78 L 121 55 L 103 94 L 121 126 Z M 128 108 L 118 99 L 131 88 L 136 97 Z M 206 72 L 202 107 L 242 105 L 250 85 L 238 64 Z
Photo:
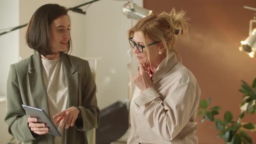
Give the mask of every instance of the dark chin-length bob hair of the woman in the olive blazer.
M 68 10 L 58 4 L 45 4 L 39 7 L 28 23 L 26 44 L 43 56 L 54 54 L 49 47 L 49 26 L 59 16 L 69 16 L 67 13 Z M 65 53 L 69 52 L 71 43 L 70 37 Z

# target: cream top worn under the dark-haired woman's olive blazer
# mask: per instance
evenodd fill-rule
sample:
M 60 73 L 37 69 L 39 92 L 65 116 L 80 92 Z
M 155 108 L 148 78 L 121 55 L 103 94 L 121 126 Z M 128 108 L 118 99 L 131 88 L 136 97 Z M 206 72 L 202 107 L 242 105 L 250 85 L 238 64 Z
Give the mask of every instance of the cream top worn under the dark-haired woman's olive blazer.
M 53 123 L 56 119 L 53 119 L 53 115 L 56 115 L 60 111 L 63 111 L 67 108 L 67 99 L 68 99 L 68 87 L 66 84 L 66 79 L 64 75 L 64 70 L 62 67 L 62 62 L 60 58 L 54 60 L 42 60 L 42 75 L 43 82 L 46 88 L 47 101 L 49 106 L 49 114 Z M 55 124 L 55 123 L 54 123 Z M 55 124 L 58 128 L 62 137 L 55 137 L 55 144 L 63 144 L 64 142 L 64 130 L 59 129 L 59 124 Z

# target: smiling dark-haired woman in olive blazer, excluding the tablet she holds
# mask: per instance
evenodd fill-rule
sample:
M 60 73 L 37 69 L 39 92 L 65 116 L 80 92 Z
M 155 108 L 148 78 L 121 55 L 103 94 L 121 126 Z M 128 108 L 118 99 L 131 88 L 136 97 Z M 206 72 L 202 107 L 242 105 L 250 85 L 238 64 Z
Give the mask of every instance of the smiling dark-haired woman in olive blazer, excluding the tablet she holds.
M 26 43 L 36 52 L 10 66 L 5 122 L 22 144 L 87 144 L 85 131 L 99 124 L 89 63 L 67 54 L 70 29 L 65 7 L 39 7 L 26 31 Z M 49 128 L 26 115 L 22 104 L 46 111 L 62 137 L 48 134 Z

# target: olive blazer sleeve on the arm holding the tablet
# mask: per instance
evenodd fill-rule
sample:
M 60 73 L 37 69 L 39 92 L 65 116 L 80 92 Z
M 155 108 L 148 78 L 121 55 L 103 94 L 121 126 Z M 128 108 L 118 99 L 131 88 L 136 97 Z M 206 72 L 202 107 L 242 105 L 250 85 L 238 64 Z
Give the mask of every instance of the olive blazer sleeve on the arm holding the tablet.
M 14 65 L 11 65 L 7 79 L 7 114 L 4 121 L 13 137 L 20 141 L 31 141 L 38 137 L 33 137 L 28 127 L 29 116 L 26 115 L 22 104 L 16 70 Z

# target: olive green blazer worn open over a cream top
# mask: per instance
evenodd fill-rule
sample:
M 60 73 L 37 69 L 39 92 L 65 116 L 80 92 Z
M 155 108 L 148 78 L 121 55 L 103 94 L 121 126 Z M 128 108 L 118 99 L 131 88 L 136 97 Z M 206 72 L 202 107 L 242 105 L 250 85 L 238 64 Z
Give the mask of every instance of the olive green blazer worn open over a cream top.
M 68 84 L 69 105 L 78 105 L 82 121 L 65 130 L 65 144 L 88 144 L 85 131 L 97 128 L 99 108 L 96 85 L 89 63 L 75 56 L 61 53 L 65 78 Z M 28 127 L 28 115 L 22 104 L 41 108 L 49 115 L 46 90 L 42 77 L 42 62 L 38 52 L 10 66 L 7 79 L 7 114 L 5 122 L 8 132 L 22 144 L 53 144 L 53 135 L 33 136 Z

